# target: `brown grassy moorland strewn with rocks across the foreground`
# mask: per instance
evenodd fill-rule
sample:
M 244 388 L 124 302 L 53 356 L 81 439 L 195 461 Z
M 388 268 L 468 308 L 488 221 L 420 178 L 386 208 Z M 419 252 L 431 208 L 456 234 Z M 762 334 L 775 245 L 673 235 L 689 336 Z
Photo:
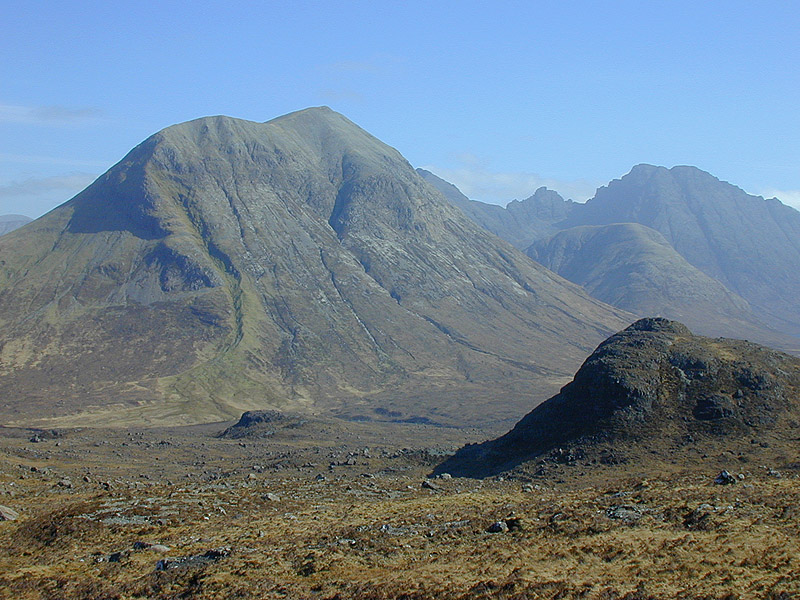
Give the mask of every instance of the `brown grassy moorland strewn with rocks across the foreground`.
M 481 434 L 224 429 L 0 428 L 0 598 L 800 594 L 797 465 L 765 448 L 427 479 Z

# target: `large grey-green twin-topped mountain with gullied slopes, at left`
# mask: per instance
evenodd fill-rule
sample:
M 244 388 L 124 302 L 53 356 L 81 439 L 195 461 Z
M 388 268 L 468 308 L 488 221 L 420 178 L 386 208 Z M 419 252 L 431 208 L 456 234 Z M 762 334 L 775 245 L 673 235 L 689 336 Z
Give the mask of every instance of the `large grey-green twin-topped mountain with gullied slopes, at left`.
M 0 239 L 0 414 L 485 424 L 628 318 L 330 109 L 203 118 Z

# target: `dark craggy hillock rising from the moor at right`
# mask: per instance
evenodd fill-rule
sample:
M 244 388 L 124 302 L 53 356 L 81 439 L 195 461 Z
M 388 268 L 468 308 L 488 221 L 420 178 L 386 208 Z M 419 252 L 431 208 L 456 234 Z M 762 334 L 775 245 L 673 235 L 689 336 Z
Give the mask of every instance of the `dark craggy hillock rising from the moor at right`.
M 438 472 L 484 477 L 548 463 L 747 460 L 753 440 L 793 456 L 800 358 L 642 319 L 600 344 L 559 394 L 502 437 L 470 445 Z M 536 469 L 536 467 L 533 467 Z

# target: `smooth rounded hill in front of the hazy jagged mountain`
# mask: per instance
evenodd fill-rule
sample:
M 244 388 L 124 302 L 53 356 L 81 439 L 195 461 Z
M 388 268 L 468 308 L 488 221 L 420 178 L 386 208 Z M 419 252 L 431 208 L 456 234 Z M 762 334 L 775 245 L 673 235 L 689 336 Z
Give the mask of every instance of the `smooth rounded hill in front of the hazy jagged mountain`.
M 632 313 L 679 320 L 705 335 L 758 338 L 775 347 L 797 344 L 759 324 L 746 300 L 644 225 L 571 227 L 534 242 L 527 254 L 593 297 Z

